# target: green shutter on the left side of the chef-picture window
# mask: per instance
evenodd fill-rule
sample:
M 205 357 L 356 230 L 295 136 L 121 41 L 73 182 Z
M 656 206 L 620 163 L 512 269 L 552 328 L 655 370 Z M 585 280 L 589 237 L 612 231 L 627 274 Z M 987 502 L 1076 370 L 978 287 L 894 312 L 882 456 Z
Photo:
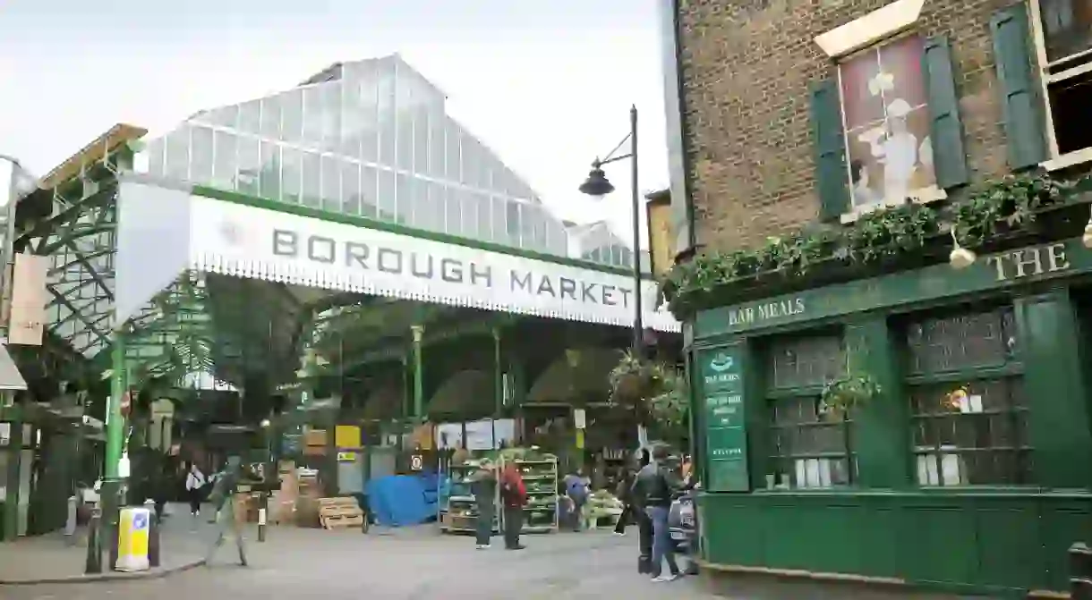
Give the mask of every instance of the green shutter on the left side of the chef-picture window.
M 845 136 L 838 80 L 811 87 L 811 144 L 815 151 L 819 218 L 836 220 L 850 209 L 850 175 L 845 170 Z

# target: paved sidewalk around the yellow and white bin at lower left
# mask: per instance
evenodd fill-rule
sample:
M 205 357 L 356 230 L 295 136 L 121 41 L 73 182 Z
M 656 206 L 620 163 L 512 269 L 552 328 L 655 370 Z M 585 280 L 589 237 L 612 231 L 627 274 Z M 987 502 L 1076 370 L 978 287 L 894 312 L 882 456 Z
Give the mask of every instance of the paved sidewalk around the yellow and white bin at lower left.
M 103 574 L 84 575 L 87 532 L 80 528 L 74 544 L 61 533 L 0 543 L 0 586 L 156 577 L 201 565 L 214 536 L 214 526 L 207 523 L 205 514 L 197 519 L 191 517 L 185 505 L 171 505 L 171 516 L 163 519 L 158 568 L 140 573 L 115 572 L 106 564 L 109 556 L 104 552 Z

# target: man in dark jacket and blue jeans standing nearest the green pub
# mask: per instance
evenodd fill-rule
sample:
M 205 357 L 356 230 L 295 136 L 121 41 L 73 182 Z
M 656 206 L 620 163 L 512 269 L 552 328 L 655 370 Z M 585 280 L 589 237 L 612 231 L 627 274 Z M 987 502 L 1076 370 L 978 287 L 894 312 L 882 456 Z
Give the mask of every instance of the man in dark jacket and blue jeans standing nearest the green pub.
M 667 516 L 670 513 L 672 495 L 681 488 L 678 477 L 667 465 L 667 446 L 660 445 L 652 451 L 652 461 L 642 467 L 633 483 L 633 500 L 644 508 L 652 525 L 652 580 L 672 581 L 679 576 L 675 563 Z M 668 573 L 663 573 L 663 562 L 667 562 Z

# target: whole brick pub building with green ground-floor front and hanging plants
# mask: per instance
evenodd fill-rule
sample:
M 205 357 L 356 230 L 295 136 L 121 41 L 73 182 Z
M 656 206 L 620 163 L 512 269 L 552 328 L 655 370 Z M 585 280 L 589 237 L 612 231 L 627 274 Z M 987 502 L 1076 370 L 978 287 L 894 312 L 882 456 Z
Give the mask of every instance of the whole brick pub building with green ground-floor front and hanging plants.
M 1092 7 L 661 7 L 707 572 L 1066 589 L 1092 541 Z

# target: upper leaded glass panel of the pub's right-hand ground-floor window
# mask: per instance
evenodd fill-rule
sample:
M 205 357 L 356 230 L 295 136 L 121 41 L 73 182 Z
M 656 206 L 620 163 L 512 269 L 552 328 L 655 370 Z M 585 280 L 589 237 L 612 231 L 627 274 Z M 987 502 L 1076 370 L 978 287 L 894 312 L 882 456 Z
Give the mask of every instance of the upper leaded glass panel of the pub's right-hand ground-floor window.
M 1014 360 L 1019 351 L 1010 308 L 912 323 L 906 345 L 911 373 L 997 367 Z

